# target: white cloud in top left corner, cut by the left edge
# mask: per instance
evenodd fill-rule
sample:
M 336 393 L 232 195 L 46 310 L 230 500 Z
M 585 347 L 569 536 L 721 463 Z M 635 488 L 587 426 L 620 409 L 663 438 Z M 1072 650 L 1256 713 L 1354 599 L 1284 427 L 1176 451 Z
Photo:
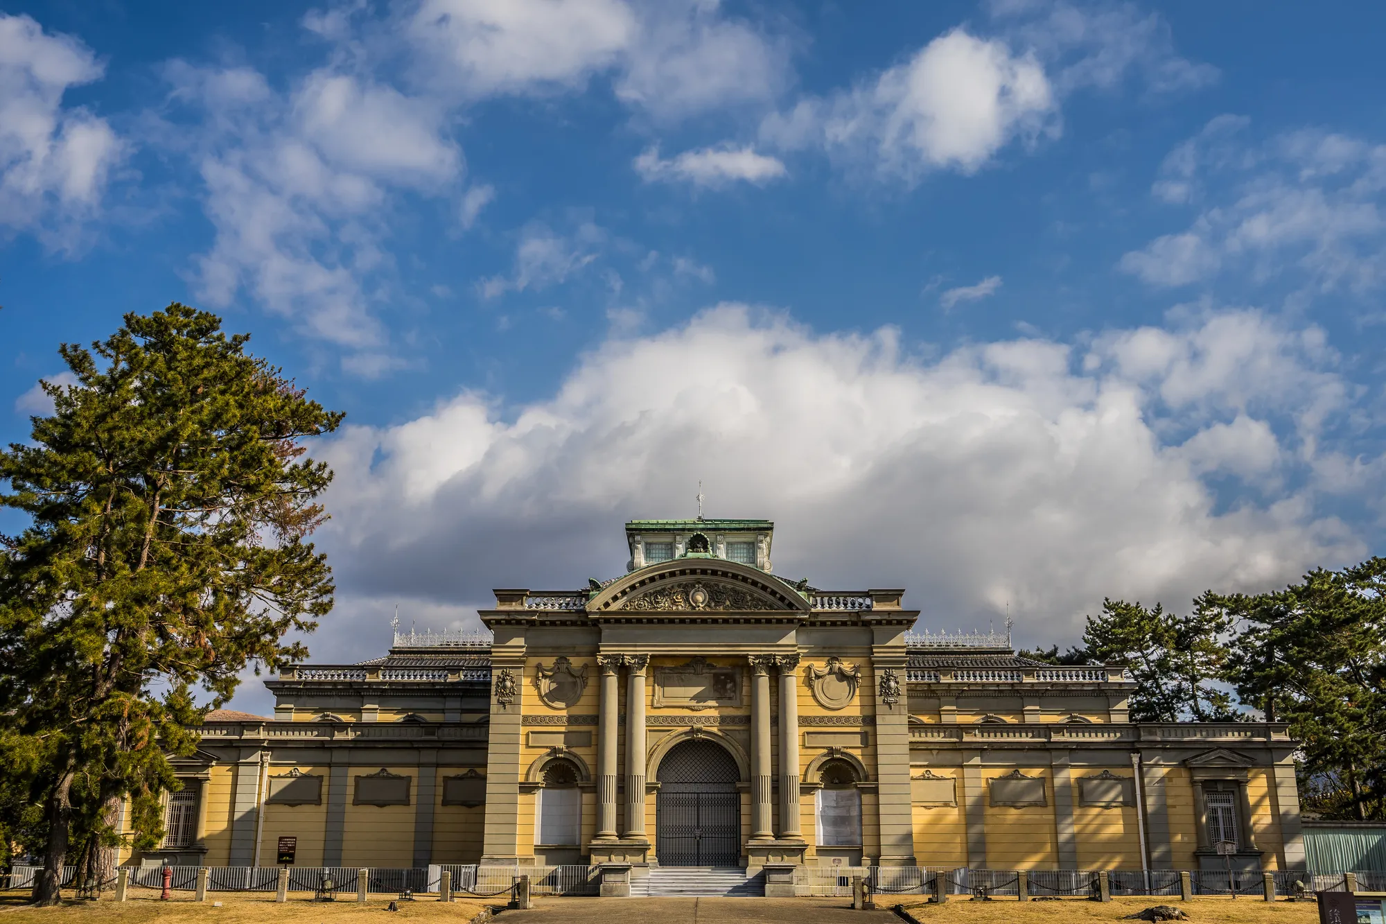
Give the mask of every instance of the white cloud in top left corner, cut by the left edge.
M 62 96 L 103 72 L 78 39 L 0 14 L 0 230 L 36 230 L 49 247 L 71 247 L 75 225 L 100 207 L 126 144 Z

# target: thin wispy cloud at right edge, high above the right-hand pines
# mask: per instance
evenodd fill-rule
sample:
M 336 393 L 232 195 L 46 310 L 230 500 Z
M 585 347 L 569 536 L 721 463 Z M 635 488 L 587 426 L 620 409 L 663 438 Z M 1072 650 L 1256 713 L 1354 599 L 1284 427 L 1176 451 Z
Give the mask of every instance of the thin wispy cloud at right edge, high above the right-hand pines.
M 1290 275 L 1319 291 L 1386 282 L 1386 144 L 1317 130 L 1254 143 L 1246 126 L 1218 117 L 1166 157 L 1152 194 L 1198 214 L 1125 254 L 1121 269 L 1153 286 L 1229 271 L 1257 282 Z

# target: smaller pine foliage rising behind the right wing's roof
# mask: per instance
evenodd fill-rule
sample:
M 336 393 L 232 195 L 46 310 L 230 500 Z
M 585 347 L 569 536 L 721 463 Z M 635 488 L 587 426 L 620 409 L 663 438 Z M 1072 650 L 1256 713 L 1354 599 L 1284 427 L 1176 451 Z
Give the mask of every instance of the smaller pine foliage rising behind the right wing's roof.
M 1227 721 L 1240 713 L 1222 677 L 1228 649 L 1227 619 L 1195 605 L 1188 616 L 1160 604 L 1103 599 L 1102 615 L 1088 616 L 1082 651 L 1095 663 L 1124 663 L 1137 683 L 1132 721 Z

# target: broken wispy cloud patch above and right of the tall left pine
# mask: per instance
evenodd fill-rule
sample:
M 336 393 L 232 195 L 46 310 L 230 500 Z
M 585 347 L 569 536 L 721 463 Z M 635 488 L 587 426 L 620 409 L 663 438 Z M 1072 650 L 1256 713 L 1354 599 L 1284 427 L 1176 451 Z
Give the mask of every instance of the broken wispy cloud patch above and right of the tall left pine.
M 394 197 L 449 190 L 463 172 L 444 111 L 331 67 L 288 93 L 249 68 L 177 61 L 172 99 L 201 119 L 194 150 L 216 236 L 197 259 L 212 307 L 248 294 L 310 337 L 348 351 L 345 368 L 398 368 L 371 289 L 389 269 L 383 241 Z

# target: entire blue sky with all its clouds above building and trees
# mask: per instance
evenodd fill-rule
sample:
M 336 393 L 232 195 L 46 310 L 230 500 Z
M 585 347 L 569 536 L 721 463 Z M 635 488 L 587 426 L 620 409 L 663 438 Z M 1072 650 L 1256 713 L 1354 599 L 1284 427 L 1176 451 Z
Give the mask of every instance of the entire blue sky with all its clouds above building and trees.
M 1383 18 L 0 3 L 0 436 L 122 312 L 251 332 L 348 412 L 328 659 L 699 479 L 936 626 L 1272 587 L 1380 545 Z

